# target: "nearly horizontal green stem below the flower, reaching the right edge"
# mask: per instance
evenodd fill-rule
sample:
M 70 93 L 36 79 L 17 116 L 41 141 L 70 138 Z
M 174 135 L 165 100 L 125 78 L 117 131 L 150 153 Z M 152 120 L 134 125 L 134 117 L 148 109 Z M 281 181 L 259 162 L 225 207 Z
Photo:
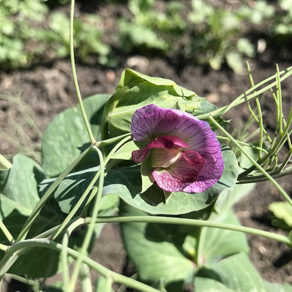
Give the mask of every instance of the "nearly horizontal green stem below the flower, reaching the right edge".
M 91 218 L 86 218 L 85 223 Z M 251 227 L 245 227 L 240 225 L 232 225 L 227 223 L 216 223 L 213 221 L 196 220 L 188 218 L 175 218 L 175 217 L 163 217 L 163 216 L 100 216 L 96 218 L 96 223 L 163 223 L 163 224 L 178 224 L 178 225 L 191 225 L 200 227 L 213 227 L 225 230 L 233 230 L 238 232 L 244 232 L 248 234 L 255 234 L 261 237 L 267 237 L 277 241 L 284 242 L 291 246 L 292 241 L 281 234 L 275 234 L 273 232 L 267 232 L 264 230 L 258 230 Z

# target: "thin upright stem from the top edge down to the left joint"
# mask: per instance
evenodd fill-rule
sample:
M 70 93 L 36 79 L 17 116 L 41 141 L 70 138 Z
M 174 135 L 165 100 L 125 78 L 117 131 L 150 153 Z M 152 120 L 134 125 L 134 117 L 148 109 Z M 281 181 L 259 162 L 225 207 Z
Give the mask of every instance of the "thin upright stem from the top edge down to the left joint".
M 91 140 L 91 144 L 93 145 L 95 143 L 95 138 L 93 137 L 93 133 L 91 131 L 91 126 L 88 122 L 88 118 L 84 109 L 84 104 L 82 102 L 81 93 L 79 90 L 78 80 L 77 80 L 77 74 L 76 74 L 76 68 L 75 68 L 75 61 L 74 61 L 74 41 L 73 41 L 73 23 L 74 23 L 74 0 L 71 0 L 71 9 L 70 9 L 70 59 L 71 59 L 71 67 L 72 67 L 72 77 L 74 81 L 75 90 L 77 93 L 77 98 L 79 102 L 79 107 L 81 110 L 82 117 L 84 119 L 84 123 L 86 126 L 86 130 L 89 136 L 89 139 Z

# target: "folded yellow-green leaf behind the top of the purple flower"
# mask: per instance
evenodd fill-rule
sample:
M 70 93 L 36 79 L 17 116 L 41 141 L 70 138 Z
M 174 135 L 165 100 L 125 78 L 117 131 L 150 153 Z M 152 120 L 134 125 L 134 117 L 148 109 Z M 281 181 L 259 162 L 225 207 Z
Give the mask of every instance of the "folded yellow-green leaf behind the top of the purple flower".
M 159 107 L 183 110 L 193 115 L 215 110 L 215 106 L 205 98 L 200 98 L 193 91 L 178 86 L 174 81 L 148 77 L 126 69 L 121 75 L 114 95 L 107 102 L 102 127 L 107 128 L 110 138 L 128 133 L 135 110 L 151 103 Z

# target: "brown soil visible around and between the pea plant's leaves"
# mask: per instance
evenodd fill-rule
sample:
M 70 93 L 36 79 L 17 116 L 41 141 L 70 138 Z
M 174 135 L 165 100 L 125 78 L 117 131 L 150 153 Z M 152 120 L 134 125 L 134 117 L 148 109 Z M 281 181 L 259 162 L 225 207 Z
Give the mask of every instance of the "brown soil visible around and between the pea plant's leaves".
M 275 63 L 280 69 L 285 69 L 291 63 L 275 59 L 274 55 L 263 55 L 256 60 L 250 60 L 253 80 L 256 83 L 272 76 L 276 72 Z M 196 65 L 184 60 L 167 60 L 161 57 L 146 58 L 140 55 L 123 56 L 119 67 L 110 69 L 100 65 L 84 65 L 77 63 L 77 76 L 81 94 L 86 97 L 95 93 L 113 93 L 121 72 L 126 67 L 136 69 L 143 74 L 154 77 L 172 79 L 180 86 L 195 91 L 206 97 L 218 107 L 227 105 L 241 93 L 250 88 L 248 74 L 237 75 L 230 69 L 223 68 L 215 71 L 205 66 Z M 291 78 L 282 84 L 284 109 L 288 112 L 292 104 Z M 20 97 L 25 107 L 41 133 L 49 122 L 62 110 L 77 104 L 77 97 L 72 81 L 69 60 L 54 60 L 49 64 L 39 64 L 27 69 L 13 72 L 0 72 L 0 93 L 11 97 Z M 265 123 L 273 130 L 275 116 L 271 95 L 266 98 L 263 110 Z M 235 107 L 225 115 L 231 119 L 232 128 L 239 126 L 239 121 L 246 123 L 249 116 L 246 104 Z M 15 130 L 15 122 L 24 128 L 27 137 L 21 137 L 20 130 Z M 0 99 L 0 153 L 13 154 L 27 149 L 38 152 L 41 135 L 29 125 L 29 121 L 20 107 L 13 100 Z M 232 129 L 231 129 L 232 130 Z M 11 139 L 8 139 L 6 133 Z M 15 141 L 27 142 L 27 148 L 21 148 Z M 37 159 L 37 157 L 36 157 Z M 292 194 L 291 175 L 278 180 L 288 194 Z M 284 231 L 273 227 L 267 220 L 268 206 L 273 201 L 281 201 L 279 192 L 270 183 L 258 183 L 248 196 L 241 199 L 235 206 L 242 225 L 261 230 L 285 234 Z M 251 260 L 258 272 L 268 281 L 277 283 L 292 283 L 292 251 L 285 244 L 277 241 L 248 235 L 251 246 Z M 124 250 L 119 225 L 105 225 L 101 236 L 96 241 L 91 257 L 98 263 L 109 267 L 115 272 L 128 274 L 134 272 L 128 263 Z M 97 275 L 94 275 L 96 278 Z M 15 287 L 15 286 L 14 286 Z M 19 285 L 18 291 L 26 291 Z M 13 282 L 4 281 L 3 291 L 16 291 Z

